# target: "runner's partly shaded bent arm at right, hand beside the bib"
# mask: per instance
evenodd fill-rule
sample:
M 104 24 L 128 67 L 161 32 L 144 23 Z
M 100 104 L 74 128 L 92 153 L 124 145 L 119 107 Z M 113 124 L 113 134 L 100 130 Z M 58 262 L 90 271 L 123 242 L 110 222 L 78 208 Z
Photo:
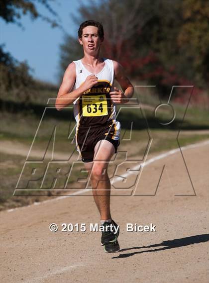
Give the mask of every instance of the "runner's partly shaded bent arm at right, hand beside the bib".
M 123 92 L 114 88 L 114 92 L 110 92 L 111 99 L 115 103 L 127 103 L 129 98 L 133 96 L 134 88 L 125 75 L 124 68 L 116 61 L 113 61 L 115 80 L 119 83 Z

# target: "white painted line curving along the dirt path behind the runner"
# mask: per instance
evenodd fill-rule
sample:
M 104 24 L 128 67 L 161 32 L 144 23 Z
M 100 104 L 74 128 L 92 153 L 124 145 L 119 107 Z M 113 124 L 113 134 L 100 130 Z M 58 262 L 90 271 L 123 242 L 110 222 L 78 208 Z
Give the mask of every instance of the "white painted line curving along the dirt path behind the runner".
M 209 144 L 209 140 L 201 142 L 201 143 L 182 146 L 181 150 L 183 151 L 183 150 L 187 150 L 187 149 L 190 149 L 190 148 L 196 148 L 196 147 L 204 146 L 204 145 L 207 145 L 207 144 Z M 140 166 L 145 167 L 145 166 L 155 162 L 156 160 L 163 159 L 163 158 L 168 157 L 169 155 L 173 155 L 173 154 L 175 154 L 179 151 L 180 151 L 180 149 L 176 148 L 176 149 L 170 150 L 166 153 L 159 154 L 159 155 L 157 155 L 153 158 L 150 158 L 149 160 L 145 161 L 144 163 L 141 163 L 140 165 L 135 166 L 132 170 L 133 171 L 138 170 Z M 128 172 L 128 173 L 124 174 L 122 177 L 126 178 L 128 175 L 131 175 L 131 174 L 134 174 L 134 173 Z M 118 178 L 114 178 L 113 181 L 111 182 L 111 184 L 114 184 L 116 182 L 118 182 Z M 40 202 L 34 202 L 33 204 L 29 204 L 29 205 L 26 205 L 26 206 L 7 209 L 6 211 L 11 212 L 11 211 L 14 211 L 16 209 L 23 209 L 23 208 L 26 208 L 26 207 L 29 207 L 29 206 L 32 206 L 32 205 L 39 205 L 39 204 L 42 204 L 42 203 L 46 203 L 46 202 L 49 202 L 49 201 L 55 201 L 55 200 L 57 201 L 57 200 L 60 200 L 60 199 L 66 198 L 66 197 L 73 196 L 73 195 L 82 194 L 82 193 L 85 193 L 85 192 L 90 191 L 90 190 L 92 190 L 92 189 L 81 189 L 81 190 L 78 190 L 78 191 L 71 193 L 70 195 L 62 195 L 62 196 L 58 196 L 58 197 L 53 198 L 53 199 L 47 199 L 47 200 L 40 201 Z

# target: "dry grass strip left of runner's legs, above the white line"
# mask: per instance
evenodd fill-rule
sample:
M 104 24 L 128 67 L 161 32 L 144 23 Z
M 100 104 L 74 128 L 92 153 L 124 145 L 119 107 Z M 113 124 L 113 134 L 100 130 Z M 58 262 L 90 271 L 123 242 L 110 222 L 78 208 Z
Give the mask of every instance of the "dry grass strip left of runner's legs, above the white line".
M 73 166 L 70 162 L 54 162 L 49 165 L 49 160 L 44 160 L 37 167 L 34 162 L 27 163 L 17 186 L 17 181 L 25 163 L 25 157 L 19 155 L 11 156 L 3 153 L 0 156 L 0 210 L 31 204 L 34 201 L 45 200 L 49 196 L 62 195 L 66 191 L 70 192 L 70 190 L 82 189 L 85 186 L 82 180 L 80 183 L 77 183 L 78 180 L 87 177 L 87 172 L 81 172 L 81 168 L 83 168 L 82 162 L 73 164 Z M 48 170 L 47 165 L 50 166 Z M 35 175 L 35 178 L 31 175 L 34 168 L 36 170 L 42 169 L 40 176 L 38 176 L 40 179 L 37 175 Z M 59 174 L 57 174 L 57 168 L 61 169 Z M 43 176 L 44 182 L 42 184 Z M 55 180 L 56 177 L 58 177 L 57 181 Z M 31 181 L 28 183 L 28 180 Z M 67 187 L 63 190 L 62 188 L 66 182 Z M 21 191 L 16 190 L 14 193 L 15 188 L 26 189 L 22 189 Z

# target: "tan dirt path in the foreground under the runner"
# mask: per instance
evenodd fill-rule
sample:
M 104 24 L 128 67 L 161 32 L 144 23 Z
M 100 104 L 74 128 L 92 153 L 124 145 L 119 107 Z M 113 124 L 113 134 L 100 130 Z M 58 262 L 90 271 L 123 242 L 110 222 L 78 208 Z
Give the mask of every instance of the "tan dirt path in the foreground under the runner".
M 1 212 L 1 283 L 208 283 L 208 145 L 185 150 L 184 158 L 196 196 L 173 154 L 143 171 L 139 189 L 150 193 L 166 165 L 155 196 L 111 198 L 121 230 L 116 254 L 105 254 L 100 233 L 90 232 L 99 221 L 92 196 Z M 50 223 L 86 223 L 87 231 L 52 233 Z M 153 223 L 156 232 L 126 232 L 126 223 Z

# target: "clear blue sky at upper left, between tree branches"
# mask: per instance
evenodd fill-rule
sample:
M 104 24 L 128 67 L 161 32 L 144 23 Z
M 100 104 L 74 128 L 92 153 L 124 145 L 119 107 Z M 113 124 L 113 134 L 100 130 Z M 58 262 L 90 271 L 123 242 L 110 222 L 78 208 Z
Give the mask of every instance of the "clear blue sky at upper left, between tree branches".
M 33 1 L 41 14 L 54 18 L 37 0 Z M 85 0 L 85 5 L 88 2 Z M 70 35 L 77 36 L 79 26 L 74 23 L 71 13 L 78 14 L 80 0 L 50 0 L 49 3 L 59 14 L 64 29 Z M 24 30 L 0 18 L 0 44 L 5 44 L 4 51 L 10 52 L 18 61 L 26 60 L 34 70 L 31 73 L 34 78 L 58 83 L 59 46 L 64 42 L 64 32 L 51 28 L 41 19 L 31 20 L 29 15 L 23 15 L 21 23 Z

